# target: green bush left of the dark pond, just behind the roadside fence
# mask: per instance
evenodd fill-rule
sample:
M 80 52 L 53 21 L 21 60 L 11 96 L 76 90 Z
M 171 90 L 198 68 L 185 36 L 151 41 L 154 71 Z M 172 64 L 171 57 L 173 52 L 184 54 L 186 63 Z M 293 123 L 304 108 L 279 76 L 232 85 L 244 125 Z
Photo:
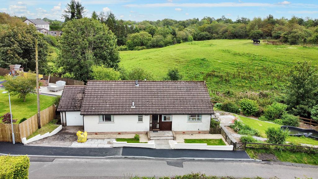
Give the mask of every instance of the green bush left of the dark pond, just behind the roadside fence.
M 289 136 L 288 130 L 275 127 L 267 128 L 265 133 L 267 136 L 267 142 L 272 144 L 285 144 L 286 139 Z

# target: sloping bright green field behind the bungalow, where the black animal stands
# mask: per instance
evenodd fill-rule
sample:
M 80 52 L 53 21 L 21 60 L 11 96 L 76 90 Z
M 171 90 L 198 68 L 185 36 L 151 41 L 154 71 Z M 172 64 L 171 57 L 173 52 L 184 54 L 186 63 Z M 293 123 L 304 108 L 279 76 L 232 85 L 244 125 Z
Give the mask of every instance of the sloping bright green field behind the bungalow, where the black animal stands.
M 142 67 L 161 80 L 178 68 L 183 80 L 205 80 L 210 92 L 273 90 L 280 92 L 297 61 L 318 64 L 318 47 L 255 45 L 251 40 L 206 40 L 140 51 L 121 51 L 126 69 Z

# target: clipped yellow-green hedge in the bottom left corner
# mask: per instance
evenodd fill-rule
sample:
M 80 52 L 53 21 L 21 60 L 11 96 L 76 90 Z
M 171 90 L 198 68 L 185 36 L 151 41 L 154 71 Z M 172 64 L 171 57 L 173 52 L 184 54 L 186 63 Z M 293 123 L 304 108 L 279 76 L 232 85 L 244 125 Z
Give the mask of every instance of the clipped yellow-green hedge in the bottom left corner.
M 0 156 L 1 179 L 27 179 L 30 159 L 27 156 Z

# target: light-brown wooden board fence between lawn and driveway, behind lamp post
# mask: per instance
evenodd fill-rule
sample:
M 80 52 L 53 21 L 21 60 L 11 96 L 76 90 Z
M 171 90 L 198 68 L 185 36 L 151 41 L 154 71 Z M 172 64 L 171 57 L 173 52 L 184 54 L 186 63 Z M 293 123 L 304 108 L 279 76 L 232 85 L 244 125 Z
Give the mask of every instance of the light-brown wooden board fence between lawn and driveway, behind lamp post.
M 55 118 L 55 110 L 56 107 L 53 104 L 40 111 L 41 126 L 46 125 Z M 38 114 L 33 115 L 31 118 L 28 118 L 20 124 L 13 125 L 15 141 L 22 142 L 22 138 L 29 137 L 36 130 L 38 130 Z M 0 124 L 0 141 L 12 142 L 11 124 Z

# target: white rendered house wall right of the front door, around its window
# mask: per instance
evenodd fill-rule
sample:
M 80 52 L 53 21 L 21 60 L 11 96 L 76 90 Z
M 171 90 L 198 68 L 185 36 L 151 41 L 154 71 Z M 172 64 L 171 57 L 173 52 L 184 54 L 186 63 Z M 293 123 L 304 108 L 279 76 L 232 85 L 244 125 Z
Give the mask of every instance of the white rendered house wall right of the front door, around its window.
M 209 131 L 210 122 L 210 114 L 203 114 L 201 122 L 188 122 L 188 115 L 172 115 L 172 131 Z

